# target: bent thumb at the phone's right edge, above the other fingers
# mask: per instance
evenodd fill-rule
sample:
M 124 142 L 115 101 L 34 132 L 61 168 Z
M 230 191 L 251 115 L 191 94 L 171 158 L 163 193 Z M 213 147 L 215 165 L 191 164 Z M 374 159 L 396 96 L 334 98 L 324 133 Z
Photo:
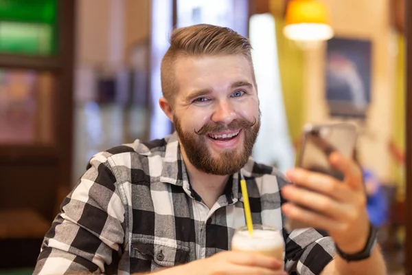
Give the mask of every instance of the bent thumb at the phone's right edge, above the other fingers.
M 363 190 L 363 175 L 361 168 L 353 159 L 344 157 L 341 153 L 330 154 L 329 162 L 334 168 L 345 175 L 345 181 L 355 190 Z

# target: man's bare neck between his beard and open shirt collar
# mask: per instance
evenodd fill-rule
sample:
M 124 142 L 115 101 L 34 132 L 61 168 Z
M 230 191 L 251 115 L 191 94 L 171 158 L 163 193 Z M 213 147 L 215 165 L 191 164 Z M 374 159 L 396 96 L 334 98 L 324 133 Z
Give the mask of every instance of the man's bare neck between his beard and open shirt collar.
M 190 178 L 190 185 L 210 209 L 225 190 L 229 175 L 207 174 L 192 165 L 183 148 L 181 148 L 181 154 Z

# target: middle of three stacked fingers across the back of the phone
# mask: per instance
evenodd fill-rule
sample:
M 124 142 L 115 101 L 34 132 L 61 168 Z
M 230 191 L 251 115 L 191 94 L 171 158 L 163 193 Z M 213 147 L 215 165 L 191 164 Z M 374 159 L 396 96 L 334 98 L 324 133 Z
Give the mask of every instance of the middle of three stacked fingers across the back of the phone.
M 282 189 L 282 195 L 285 199 L 288 199 L 288 201 L 296 203 L 299 206 L 304 206 L 310 210 L 319 212 L 319 214 L 324 214 L 325 216 L 341 221 L 344 221 L 348 212 L 352 210 L 352 208 L 348 207 L 345 203 L 335 201 L 331 197 L 297 186 L 285 186 Z

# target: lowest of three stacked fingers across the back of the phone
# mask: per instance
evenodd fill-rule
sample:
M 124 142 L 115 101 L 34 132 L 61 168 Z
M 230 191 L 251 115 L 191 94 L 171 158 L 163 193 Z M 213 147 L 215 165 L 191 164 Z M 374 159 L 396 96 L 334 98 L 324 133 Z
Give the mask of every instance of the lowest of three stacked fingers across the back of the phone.
M 325 217 L 310 210 L 305 210 L 293 203 L 284 203 L 282 210 L 290 219 L 295 219 L 310 225 L 312 228 L 319 228 L 326 231 L 342 231 L 345 223 L 336 221 L 330 217 Z

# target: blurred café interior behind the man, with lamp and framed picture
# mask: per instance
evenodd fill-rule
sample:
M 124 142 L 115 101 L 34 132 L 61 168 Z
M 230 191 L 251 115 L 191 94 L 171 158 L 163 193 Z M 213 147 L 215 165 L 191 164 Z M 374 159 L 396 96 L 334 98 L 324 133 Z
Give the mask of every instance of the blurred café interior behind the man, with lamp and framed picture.
M 0 0 L 0 274 L 32 273 L 92 155 L 171 133 L 160 62 L 172 29 L 197 23 L 251 39 L 259 162 L 293 167 L 308 122 L 358 126 L 369 217 L 406 274 L 404 2 Z

